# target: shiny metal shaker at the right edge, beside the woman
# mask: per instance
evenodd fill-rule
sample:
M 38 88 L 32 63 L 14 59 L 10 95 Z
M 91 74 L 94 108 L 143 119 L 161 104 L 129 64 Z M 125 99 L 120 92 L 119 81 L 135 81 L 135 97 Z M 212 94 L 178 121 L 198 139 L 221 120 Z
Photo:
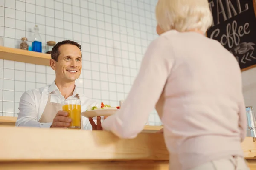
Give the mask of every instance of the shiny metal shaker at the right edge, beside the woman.
M 256 137 L 256 119 L 252 106 L 246 107 L 247 116 L 247 135 L 248 137 Z

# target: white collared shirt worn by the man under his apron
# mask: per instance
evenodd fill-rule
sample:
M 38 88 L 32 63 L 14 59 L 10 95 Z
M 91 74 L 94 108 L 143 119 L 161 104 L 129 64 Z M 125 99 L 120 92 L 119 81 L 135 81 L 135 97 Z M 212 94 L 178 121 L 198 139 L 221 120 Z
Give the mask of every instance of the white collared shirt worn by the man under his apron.
M 55 94 L 51 96 L 51 102 L 61 103 L 65 100 L 55 82 L 53 82 L 52 85 L 47 85 L 43 88 L 37 88 L 24 92 L 20 98 L 20 106 L 18 108 L 19 113 L 16 126 L 49 128 L 52 123 L 38 122 L 44 112 L 49 94 Z M 76 97 L 76 94 L 79 95 L 81 100 L 81 112 L 86 111 L 89 106 L 99 106 L 97 102 L 87 98 L 84 94 L 79 93 L 76 87 L 72 96 L 68 97 L 67 99 Z M 83 129 L 92 130 L 89 119 L 82 116 L 82 123 Z

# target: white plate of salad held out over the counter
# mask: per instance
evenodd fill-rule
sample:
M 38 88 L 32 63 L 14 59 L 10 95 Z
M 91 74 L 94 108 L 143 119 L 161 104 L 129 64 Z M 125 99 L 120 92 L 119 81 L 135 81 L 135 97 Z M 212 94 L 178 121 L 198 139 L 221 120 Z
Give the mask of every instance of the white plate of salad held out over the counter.
M 87 118 L 97 116 L 111 116 L 115 114 L 116 111 L 118 111 L 119 109 L 119 106 L 111 107 L 110 105 L 104 105 L 102 102 L 100 108 L 98 108 L 97 106 L 93 106 L 82 112 L 81 115 Z

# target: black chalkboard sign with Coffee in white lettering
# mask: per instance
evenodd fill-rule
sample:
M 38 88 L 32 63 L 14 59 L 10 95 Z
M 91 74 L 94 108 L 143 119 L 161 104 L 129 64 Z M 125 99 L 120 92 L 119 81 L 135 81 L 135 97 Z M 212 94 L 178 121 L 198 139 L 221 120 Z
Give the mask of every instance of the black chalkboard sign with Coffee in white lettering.
M 207 37 L 221 42 L 236 57 L 241 70 L 256 66 L 253 0 L 209 0 L 209 6 L 213 25 Z

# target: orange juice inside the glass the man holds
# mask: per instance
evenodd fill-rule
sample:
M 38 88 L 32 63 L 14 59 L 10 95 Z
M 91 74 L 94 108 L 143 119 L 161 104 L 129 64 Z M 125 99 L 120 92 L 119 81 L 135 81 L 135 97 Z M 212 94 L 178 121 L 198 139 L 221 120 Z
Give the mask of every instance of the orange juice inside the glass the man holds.
M 70 128 L 81 129 L 81 105 L 63 105 L 62 109 L 63 111 L 68 112 L 68 117 L 72 119 L 70 122 Z

